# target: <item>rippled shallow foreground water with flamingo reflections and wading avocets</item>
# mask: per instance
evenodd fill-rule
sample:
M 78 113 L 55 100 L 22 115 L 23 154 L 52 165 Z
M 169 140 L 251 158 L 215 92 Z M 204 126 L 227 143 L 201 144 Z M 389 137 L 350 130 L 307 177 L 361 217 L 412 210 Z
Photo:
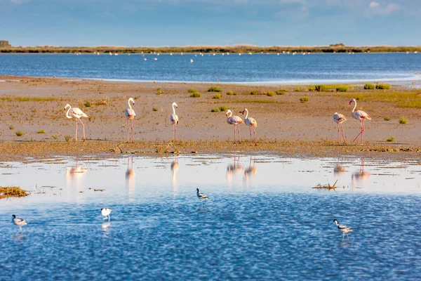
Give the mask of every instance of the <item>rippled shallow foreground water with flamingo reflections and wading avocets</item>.
M 416 280 L 420 173 L 417 162 L 267 156 L 1 164 L 1 185 L 32 194 L 0 201 L 0 280 Z

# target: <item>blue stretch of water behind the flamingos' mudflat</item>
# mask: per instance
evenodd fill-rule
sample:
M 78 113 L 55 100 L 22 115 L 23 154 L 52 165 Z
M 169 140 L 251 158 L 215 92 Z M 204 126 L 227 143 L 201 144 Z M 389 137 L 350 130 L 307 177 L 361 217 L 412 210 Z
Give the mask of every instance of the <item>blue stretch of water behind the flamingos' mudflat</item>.
M 421 80 L 421 54 L 18 54 L 0 55 L 0 74 L 244 84 L 417 81 Z

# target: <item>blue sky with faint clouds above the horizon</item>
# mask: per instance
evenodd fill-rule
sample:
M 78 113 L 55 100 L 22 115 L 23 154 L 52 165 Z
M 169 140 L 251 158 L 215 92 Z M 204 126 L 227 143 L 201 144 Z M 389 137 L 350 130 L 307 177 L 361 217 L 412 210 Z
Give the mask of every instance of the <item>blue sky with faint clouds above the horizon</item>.
M 0 0 L 14 46 L 421 45 L 420 0 Z

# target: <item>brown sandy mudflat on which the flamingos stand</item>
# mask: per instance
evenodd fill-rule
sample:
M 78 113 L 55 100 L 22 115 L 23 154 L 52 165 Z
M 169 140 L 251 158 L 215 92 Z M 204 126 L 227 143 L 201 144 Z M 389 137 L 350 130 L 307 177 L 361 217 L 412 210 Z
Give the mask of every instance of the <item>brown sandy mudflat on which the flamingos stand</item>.
M 4 81 L 2 81 L 4 80 Z M 222 98 L 212 98 L 210 86 L 222 89 Z M 156 89 L 161 88 L 160 95 Z M 189 88 L 201 93 L 201 98 L 190 98 Z M 250 95 L 250 91 L 275 91 L 287 88 L 286 95 L 269 97 Z M 300 88 L 300 91 L 296 91 Z M 236 96 L 227 96 L 235 91 Z M 390 93 L 421 92 L 392 87 Z M 93 81 L 0 76 L 1 129 L 0 155 L 2 159 L 26 156 L 98 154 L 116 150 L 126 141 L 127 100 L 135 98 L 134 145 L 121 145 L 123 152 L 161 153 L 201 152 L 276 152 L 299 155 L 361 157 L 419 157 L 421 148 L 421 110 L 399 107 L 392 99 L 362 101 L 358 107 L 368 112 L 366 145 L 352 145 L 359 133 L 359 122 L 352 119 L 349 96 L 366 94 L 361 86 L 341 96 L 339 93 L 308 91 L 305 86 L 239 86 L 226 84 L 184 84 Z M 371 92 L 373 93 L 373 92 Z M 384 93 L 378 91 L 378 93 Z M 307 103 L 300 97 L 308 96 Z M 274 103 L 264 103 L 264 101 Z M 86 102 L 91 107 L 86 107 Z M 179 143 L 168 145 L 172 138 L 169 116 L 171 104 L 178 103 Z M 74 121 L 65 117 L 64 106 L 79 107 L 90 118 L 86 124 L 86 143 L 74 143 Z M 225 112 L 210 112 L 225 105 L 236 115 L 247 107 L 250 116 L 258 121 L 258 147 L 248 146 L 248 127 L 241 126 L 241 145 L 233 145 L 233 128 L 227 124 Z M 158 110 L 153 111 L 156 107 Z M 333 114 L 340 112 L 348 120 L 344 123 L 349 145 L 335 145 L 337 138 Z M 390 117 L 385 121 L 384 117 Z M 399 124 L 406 117 L 408 124 Z M 13 129 L 9 129 L 13 126 Z M 37 133 L 44 130 L 46 133 Z M 16 136 L 22 131 L 23 136 Z M 71 136 L 69 142 L 65 136 Z M 80 138 L 83 136 L 79 126 Z M 389 137 L 394 141 L 386 141 Z M 168 148 L 167 148 L 168 146 Z M 119 149 L 117 149 L 119 150 Z M 119 151 L 118 151 L 119 152 Z

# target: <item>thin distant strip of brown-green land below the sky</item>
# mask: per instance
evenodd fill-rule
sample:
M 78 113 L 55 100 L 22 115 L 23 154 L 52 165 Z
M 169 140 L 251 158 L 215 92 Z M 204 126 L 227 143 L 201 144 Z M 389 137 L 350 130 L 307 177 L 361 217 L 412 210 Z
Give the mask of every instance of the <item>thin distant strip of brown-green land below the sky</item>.
M 421 46 L 8 46 L 0 53 L 420 53 Z

